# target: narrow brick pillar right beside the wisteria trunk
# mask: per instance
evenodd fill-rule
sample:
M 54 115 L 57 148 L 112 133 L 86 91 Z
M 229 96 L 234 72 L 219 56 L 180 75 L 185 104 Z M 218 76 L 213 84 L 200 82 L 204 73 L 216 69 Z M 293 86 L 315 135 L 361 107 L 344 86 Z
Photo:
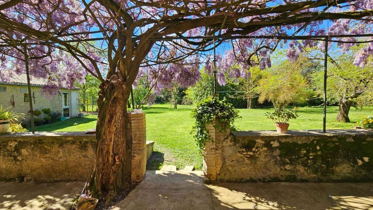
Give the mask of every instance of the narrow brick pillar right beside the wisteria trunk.
M 146 171 L 146 121 L 145 113 L 128 114 L 132 128 L 131 181 L 141 182 Z

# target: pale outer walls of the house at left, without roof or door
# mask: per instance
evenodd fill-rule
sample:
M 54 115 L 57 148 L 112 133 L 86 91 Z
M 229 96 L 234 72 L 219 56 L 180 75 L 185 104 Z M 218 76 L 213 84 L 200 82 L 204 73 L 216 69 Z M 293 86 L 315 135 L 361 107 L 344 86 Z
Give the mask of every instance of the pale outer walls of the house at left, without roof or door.
M 32 98 L 32 106 L 34 109 L 41 109 L 43 108 L 50 108 L 51 111 L 59 111 L 62 112 L 62 103 L 63 103 L 63 94 L 69 94 L 69 106 L 70 106 L 70 116 L 76 117 L 79 114 L 79 90 L 68 90 L 68 89 L 60 89 L 60 91 L 54 96 L 53 99 L 47 99 L 45 96 L 40 94 L 41 87 L 31 87 L 31 96 Z M 0 84 L 0 105 L 3 105 L 3 108 L 7 108 L 12 106 L 10 101 L 14 101 L 14 107 L 12 110 L 18 113 L 24 113 L 25 121 L 30 120 L 30 115 L 27 112 L 30 110 L 29 102 L 28 102 L 28 93 L 27 86 L 23 85 L 8 85 L 8 84 Z M 42 114 L 44 117 L 44 114 Z

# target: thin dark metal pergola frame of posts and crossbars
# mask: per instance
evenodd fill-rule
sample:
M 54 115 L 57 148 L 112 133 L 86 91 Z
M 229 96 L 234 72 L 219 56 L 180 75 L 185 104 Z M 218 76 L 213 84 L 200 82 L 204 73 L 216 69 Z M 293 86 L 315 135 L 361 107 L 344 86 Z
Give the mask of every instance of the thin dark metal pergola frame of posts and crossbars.
M 96 31 L 96 33 L 101 31 Z M 336 42 L 336 43 L 368 43 L 373 42 L 373 40 L 368 41 L 341 41 L 341 40 L 332 40 L 331 38 L 344 38 L 344 37 L 373 37 L 373 34 L 340 34 L 340 35 L 236 35 L 236 36 L 223 36 L 223 35 L 216 35 L 216 36 L 186 36 L 186 37 L 160 37 L 160 38 L 150 38 L 150 40 L 154 41 L 167 41 L 167 40 L 189 40 L 189 39 L 212 39 L 213 40 L 213 50 L 214 50 L 214 66 L 213 66 L 213 73 L 214 73 L 214 94 L 219 93 L 217 91 L 217 84 L 216 84 L 216 46 L 215 41 L 216 40 L 236 40 L 236 39 L 242 39 L 242 38 L 250 38 L 250 39 L 257 39 L 257 38 L 267 38 L 267 39 L 278 39 L 278 40 L 315 40 L 315 41 L 324 41 L 325 42 L 325 58 L 324 58 L 324 87 L 323 87 L 323 132 L 326 132 L 326 80 L 327 80 L 327 50 L 328 50 L 328 42 Z M 66 40 L 65 42 L 82 42 L 82 41 L 98 41 L 98 40 L 105 40 L 106 38 L 90 38 L 85 40 Z M 134 37 L 133 40 L 140 40 L 140 37 Z M 37 44 L 54 44 L 54 42 L 51 41 L 43 41 L 43 42 L 34 42 L 34 43 L 16 43 L 15 45 L 18 46 L 28 46 L 28 45 L 37 45 Z M 14 44 L 12 44 L 14 46 Z M 0 47 L 8 47 L 7 45 L 3 45 Z M 28 71 L 28 62 L 27 62 L 27 52 L 26 47 L 24 48 L 24 54 L 25 54 L 25 68 L 26 68 L 26 75 L 27 75 L 27 86 L 29 91 L 29 101 L 30 101 L 30 115 L 31 115 L 31 131 L 34 133 L 34 116 L 33 116 L 33 109 L 32 109 L 32 103 L 31 103 L 31 86 L 29 81 L 29 71 Z M 158 79 L 157 79 L 158 80 Z M 155 83 L 157 82 L 155 81 Z M 154 83 L 154 84 L 155 84 Z M 152 85 L 151 89 L 153 88 L 154 84 Z M 150 89 L 150 90 L 151 90 Z M 148 91 L 147 95 L 150 93 L 150 90 Z M 142 99 L 140 105 L 142 102 L 144 102 L 145 98 L 147 97 L 145 95 L 144 99 Z M 133 93 L 131 89 L 131 98 L 132 98 L 132 107 L 134 108 L 134 99 L 133 99 Z M 138 105 L 138 106 L 140 106 Z

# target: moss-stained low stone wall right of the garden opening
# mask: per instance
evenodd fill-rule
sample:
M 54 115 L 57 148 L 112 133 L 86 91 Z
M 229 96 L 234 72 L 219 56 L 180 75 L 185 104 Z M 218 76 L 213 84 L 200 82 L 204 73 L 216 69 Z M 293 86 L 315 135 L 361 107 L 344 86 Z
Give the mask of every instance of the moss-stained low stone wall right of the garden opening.
M 289 131 L 288 134 L 241 131 L 216 138 L 210 143 L 206 148 L 215 151 L 214 163 L 221 162 L 221 166 L 210 166 L 215 169 L 215 174 L 207 173 L 207 180 L 373 180 L 372 130 L 327 130 L 326 133 L 320 130 L 299 130 Z M 220 156 L 216 155 L 216 151 L 219 151 Z M 204 170 L 211 172 L 213 169 L 210 167 Z

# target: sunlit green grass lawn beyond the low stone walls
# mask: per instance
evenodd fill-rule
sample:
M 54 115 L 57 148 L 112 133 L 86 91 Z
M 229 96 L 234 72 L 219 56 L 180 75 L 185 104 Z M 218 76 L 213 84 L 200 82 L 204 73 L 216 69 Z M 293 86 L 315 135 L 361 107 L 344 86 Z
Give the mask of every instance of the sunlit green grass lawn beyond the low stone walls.
M 163 164 L 173 164 L 178 169 L 194 165 L 202 168 L 202 158 L 190 131 L 194 120 L 190 117 L 195 105 L 179 105 L 173 109 L 169 104 L 156 104 L 145 108 L 147 120 L 147 140 L 154 140 L 154 157 L 149 161 L 147 169 L 159 169 Z M 238 130 L 275 130 L 269 119 L 264 116 L 271 108 L 239 109 L 242 116 L 235 123 Z M 290 121 L 289 129 L 311 130 L 322 129 L 323 108 L 298 108 L 299 117 Z M 349 117 L 352 123 L 340 123 L 335 120 L 337 106 L 327 108 L 326 129 L 353 129 L 355 122 L 364 115 L 372 115 L 373 107 L 363 110 L 351 108 Z M 62 122 L 35 127 L 36 131 L 85 131 L 95 128 L 97 115 L 84 118 L 71 118 Z M 78 125 L 73 125 L 78 123 Z

